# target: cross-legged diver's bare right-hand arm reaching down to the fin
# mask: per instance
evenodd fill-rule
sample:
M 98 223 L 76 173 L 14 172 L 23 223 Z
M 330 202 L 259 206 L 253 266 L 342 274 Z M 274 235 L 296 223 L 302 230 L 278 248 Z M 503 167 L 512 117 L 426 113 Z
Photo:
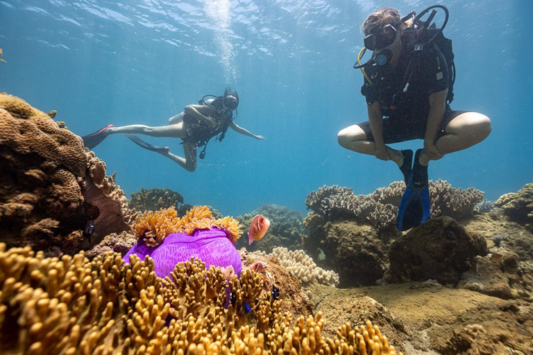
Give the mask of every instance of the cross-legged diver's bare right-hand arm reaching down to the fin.
M 434 92 L 430 95 L 430 113 L 428 114 L 428 127 L 425 129 L 424 149 L 430 154 L 431 159 L 440 159 L 442 155 L 435 148 L 435 141 L 439 135 L 444 112 L 446 111 L 446 96 L 448 89 Z M 433 156 L 434 155 L 434 156 Z

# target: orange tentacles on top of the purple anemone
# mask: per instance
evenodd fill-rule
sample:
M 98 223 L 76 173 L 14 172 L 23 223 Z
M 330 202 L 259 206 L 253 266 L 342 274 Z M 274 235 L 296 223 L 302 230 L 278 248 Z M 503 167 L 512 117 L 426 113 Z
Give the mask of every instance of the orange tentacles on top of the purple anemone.
M 194 230 L 208 230 L 212 227 L 227 230 L 231 234 L 232 243 L 242 234 L 237 220 L 230 216 L 215 220 L 208 206 L 194 206 L 182 218 L 178 217 L 174 207 L 160 209 L 155 213 L 145 211 L 142 216 L 137 216 L 134 229 L 137 238 L 144 239 L 149 247 L 156 247 L 171 233 L 192 235 Z

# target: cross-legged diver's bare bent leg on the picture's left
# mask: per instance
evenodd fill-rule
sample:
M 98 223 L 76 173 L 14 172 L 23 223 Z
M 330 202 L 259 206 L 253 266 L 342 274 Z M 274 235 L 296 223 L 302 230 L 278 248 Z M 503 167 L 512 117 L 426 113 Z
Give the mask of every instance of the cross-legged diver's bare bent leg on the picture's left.
M 357 153 L 375 155 L 375 143 L 366 137 L 366 133 L 359 125 L 350 125 L 341 130 L 337 135 L 337 140 L 346 149 L 353 150 Z M 389 152 L 393 162 L 398 166 L 403 165 L 403 155 L 400 150 L 390 148 L 389 146 L 385 146 L 385 149 Z

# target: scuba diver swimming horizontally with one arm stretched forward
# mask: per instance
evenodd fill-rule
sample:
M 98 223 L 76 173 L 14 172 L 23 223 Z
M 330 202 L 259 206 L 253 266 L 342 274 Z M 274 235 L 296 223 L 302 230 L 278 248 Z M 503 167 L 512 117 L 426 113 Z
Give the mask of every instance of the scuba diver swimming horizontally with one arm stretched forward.
M 192 172 L 196 170 L 196 148 L 203 146 L 203 150 L 200 152 L 200 159 L 203 159 L 205 148 L 207 148 L 210 139 L 217 136 L 217 140 L 222 141 L 228 128 L 248 137 L 264 139 L 263 136 L 254 135 L 234 122 L 237 114 L 233 116 L 233 112 L 237 110 L 238 105 L 239 94 L 230 87 L 226 87 L 223 96 L 206 95 L 198 102 L 198 105 L 185 106 L 183 112 L 169 119 L 169 125 L 160 127 L 149 127 L 148 125 L 114 127 L 108 125 L 92 135 L 82 137 L 83 144 L 92 149 L 98 146 L 108 135 L 123 133 L 138 146 L 160 153 L 174 160 L 187 171 Z M 133 134 L 180 138 L 183 140 L 185 157 L 170 153 L 169 147 L 148 144 Z

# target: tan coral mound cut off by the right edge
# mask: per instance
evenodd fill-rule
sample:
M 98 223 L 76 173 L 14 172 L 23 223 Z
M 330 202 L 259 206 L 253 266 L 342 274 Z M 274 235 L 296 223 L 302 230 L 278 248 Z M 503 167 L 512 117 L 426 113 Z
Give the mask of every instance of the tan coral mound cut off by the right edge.
M 518 192 L 506 193 L 498 198 L 496 206 L 501 207 L 511 220 L 525 225 L 533 232 L 533 182 L 525 184 Z

